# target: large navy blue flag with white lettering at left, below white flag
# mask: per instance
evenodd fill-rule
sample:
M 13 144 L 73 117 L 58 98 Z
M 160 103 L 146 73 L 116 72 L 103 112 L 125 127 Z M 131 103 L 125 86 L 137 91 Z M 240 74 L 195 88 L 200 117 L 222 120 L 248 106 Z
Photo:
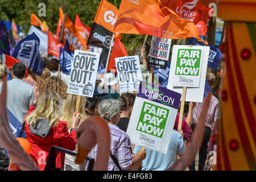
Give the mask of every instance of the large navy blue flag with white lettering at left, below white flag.
M 28 69 L 40 76 L 43 73 L 44 63 L 39 52 L 40 39 L 33 32 L 20 40 L 15 47 L 13 57 L 18 59 Z

